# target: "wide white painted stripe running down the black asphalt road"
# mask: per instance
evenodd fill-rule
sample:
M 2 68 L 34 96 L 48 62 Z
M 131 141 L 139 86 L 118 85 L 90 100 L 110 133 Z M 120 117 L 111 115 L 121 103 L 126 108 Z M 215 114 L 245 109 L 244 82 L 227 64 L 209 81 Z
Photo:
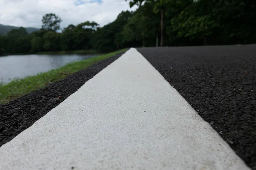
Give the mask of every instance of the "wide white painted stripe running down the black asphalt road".
M 132 48 L 0 147 L 1 170 L 249 170 Z

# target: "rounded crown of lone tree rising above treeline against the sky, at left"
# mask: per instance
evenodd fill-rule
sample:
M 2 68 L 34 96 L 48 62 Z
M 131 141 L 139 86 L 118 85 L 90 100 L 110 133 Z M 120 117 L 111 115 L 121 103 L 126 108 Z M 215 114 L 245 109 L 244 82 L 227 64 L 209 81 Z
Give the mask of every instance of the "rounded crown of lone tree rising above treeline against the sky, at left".
M 42 18 L 42 28 L 46 30 L 58 31 L 60 29 L 61 21 L 61 18 L 56 14 L 45 14 Z

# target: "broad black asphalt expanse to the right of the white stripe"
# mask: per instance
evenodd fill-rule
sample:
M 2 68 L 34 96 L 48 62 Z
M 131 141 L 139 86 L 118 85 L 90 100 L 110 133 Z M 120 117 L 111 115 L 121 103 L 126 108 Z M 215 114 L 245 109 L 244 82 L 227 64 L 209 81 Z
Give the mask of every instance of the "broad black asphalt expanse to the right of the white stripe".
M 256 170 L 256 45 L 137 50 Z

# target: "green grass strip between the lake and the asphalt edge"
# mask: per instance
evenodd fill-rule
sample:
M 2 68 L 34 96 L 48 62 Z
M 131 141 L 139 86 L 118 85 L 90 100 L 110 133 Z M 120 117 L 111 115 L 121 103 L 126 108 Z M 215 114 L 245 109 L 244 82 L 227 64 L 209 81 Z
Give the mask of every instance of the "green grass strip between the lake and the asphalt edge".
M 32 91 L 44 88 L 53 82 L 64 79 L 70 74 L 93 65 L 96 62 L 112 57 L 125 50 L 127 49 L 100 55 L 79 62 L 69 63 L 61 68 L 39 73 L 35 76 L 28 76 L 23 79 L 14 79 L 8 84 L 0 84 L 0 103 L 6 104 L 12 99 L 17 99 L 18 97 L 28 94 Z

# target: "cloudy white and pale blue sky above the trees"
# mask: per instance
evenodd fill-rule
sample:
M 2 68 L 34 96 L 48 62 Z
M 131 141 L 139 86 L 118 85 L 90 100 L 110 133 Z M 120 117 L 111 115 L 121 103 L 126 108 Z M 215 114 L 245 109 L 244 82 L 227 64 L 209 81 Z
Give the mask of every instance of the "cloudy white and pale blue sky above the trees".
M 126 10 L 135 7 L 125 0 L 0 0 L 0 24 L 41 28 L 43 15 L 55 13 L 63 20 L 61 28 L 87 20 L 104 26 Z

